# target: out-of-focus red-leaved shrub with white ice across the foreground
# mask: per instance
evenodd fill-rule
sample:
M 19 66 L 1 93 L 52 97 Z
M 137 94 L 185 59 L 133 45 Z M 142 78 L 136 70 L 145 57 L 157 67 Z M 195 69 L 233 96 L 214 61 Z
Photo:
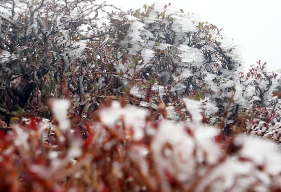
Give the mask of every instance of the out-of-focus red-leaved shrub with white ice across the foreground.
M 51 101 L 54 123 L 30 119 L 0 140 L 2 191 L 278 191 L 281 152 L 272 141 L 198 122 L 155 121 L 148 110 L 113 102 L 93 122 L 73 125 L 70 102 Z M 158 113 L 165 113 L 158 109 Z M 1 132 L 2 133 L 2 132 Z M 84 134 L 81 139 L 80 134 Z

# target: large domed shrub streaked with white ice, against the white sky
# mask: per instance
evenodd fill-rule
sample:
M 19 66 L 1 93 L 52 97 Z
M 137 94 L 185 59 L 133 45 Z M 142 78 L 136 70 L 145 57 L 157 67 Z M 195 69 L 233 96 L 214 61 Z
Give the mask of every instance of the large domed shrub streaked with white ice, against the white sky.
M 238 78 L 243 64 L 239 46 L 222 36 L 217 26 L 161 4 L 146 7 L 143 13 L 113 14 L 111 25 L 116 29 L 114 57 L 119 58 L 113 66 L 116 71 L 126 71 L 121 77 L 123 86 L 133 82 L 127 88 L 139 102 L 157 105 L 160 99 L 167 111 L 173 111 L 169 117 L 179 120 L 182 117 L 176 108 L 180 99 L 195 96 L 203 100 L 208 122 L 214 123 L 236 91 L 227 124 L 245 106 L 251 107 L 252 92 L 246 92 Z

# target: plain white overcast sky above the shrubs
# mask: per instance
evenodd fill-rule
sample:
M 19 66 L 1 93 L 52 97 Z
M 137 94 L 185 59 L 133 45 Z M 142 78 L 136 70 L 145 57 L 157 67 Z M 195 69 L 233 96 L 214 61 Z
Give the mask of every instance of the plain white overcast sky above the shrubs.
M 126 9 L 142 8 L 144 4 L 169 4 L 185 12 L 201 15 L 228 37 L 240 44 L 245 64 L 261 59 L 272 69 L 281 68 L 281 1 L 279 0 L 108 0 L 108 4 Z

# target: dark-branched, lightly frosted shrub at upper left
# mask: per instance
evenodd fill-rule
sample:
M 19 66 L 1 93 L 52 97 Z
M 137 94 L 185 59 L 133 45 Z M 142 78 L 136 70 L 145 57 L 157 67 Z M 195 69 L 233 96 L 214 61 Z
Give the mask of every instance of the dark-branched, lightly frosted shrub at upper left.
M 102 48 L 110 30 L 102 24 L 107 7 L 113 8 L 91 0 L 1 3 L 0 119 L 9 123 L 13 114 L 48 118 L 48 100 L 61 97 L 72 97 L 85 116 L 98 77 L 88 76 L 96 70 L 84 53 L 94 52 L 87 45 L 91 40 Z

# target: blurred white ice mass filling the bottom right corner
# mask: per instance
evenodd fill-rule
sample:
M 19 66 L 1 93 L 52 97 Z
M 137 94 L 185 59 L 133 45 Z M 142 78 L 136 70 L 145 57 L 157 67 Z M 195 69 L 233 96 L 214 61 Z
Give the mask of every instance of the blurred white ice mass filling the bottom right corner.
M 238 158 L 228 156 L 205 175 L 196 191 L 206 187 L 209 191 L 270 191 L 272 184 L 280 186 L 281 154 L 275 143 L 238 135 L 234 145 L 240 147 Z

